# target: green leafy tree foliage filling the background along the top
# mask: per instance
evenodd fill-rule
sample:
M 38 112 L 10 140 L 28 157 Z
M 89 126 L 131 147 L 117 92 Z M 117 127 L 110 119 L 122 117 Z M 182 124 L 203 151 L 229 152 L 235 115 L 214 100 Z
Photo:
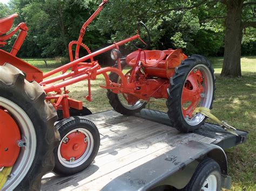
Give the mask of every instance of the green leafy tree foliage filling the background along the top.
M 223 55 L 228 1 L 109 0 L 87 28 L 84 43 L 93 50 L 127 38 L 142 20 L 151 31 L 151 48 L 183 48 L 186 54 Z M 63 56 L 69 41 L 78 38 L 80 27 L 100 2 L 11 0 L 8 6 L 0 3 L 0 16 L 17 12 L 15 24 L 26 22 L 29 27 L 19 56 Z M 241 13 L 244 25 L 251 26 L 256 6 L 251 1 L 242 2 L 247 3 Z M 255 54 L 255 28 L 245 26 L 242 32 L 242 54 Z

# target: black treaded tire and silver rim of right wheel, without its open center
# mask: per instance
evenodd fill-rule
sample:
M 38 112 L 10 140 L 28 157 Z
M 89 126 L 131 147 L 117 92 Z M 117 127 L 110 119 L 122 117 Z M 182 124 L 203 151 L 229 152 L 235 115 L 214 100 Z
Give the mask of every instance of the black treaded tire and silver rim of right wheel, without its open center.
M 206 117 L 202 114 L 196 114 L 191 118 L 184 116 L 184 107 L 181 101 L 188 75 L 191 73 L 196 73 L 197 70 L 199 70 L 201 76 L 203 76 L 204 84 L 202 85 L 204 94 L 200 95 L 201 101 L 197 107 L 206 107 L 212 109 L 214 91 L 216 89 L 214 69 L 212 68 L 210 61 L 208 61 L 204 56 L 192 55 L 186 60 L 183 60 L 175 69 L 175 74 L 173 77 L 170 78 L 170 86 L 167 89 L 169 97 L 167 98 L 166 105 L 168 108 L 167 114 L 170 118 L 171 125 L 179 131 L 185 133 L 199 129 L 206 119 Z M 194 82 L 194 86 L 195 87 L 193 87 L 193 89 L 196 89 L 196 86 L 201 86 L 201 84 L 199 84 L 199 81 L 197 80 L 197 82 Z M 204 96 L 206 98 L 204 98 Z

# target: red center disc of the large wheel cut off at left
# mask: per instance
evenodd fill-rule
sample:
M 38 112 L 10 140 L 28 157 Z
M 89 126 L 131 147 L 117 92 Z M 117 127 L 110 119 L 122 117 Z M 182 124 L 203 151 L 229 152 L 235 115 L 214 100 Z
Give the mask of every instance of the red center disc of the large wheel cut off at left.
M 8 111 L 0 109 L 0 167 L 13 166 L 18 158 L 21 133 Z

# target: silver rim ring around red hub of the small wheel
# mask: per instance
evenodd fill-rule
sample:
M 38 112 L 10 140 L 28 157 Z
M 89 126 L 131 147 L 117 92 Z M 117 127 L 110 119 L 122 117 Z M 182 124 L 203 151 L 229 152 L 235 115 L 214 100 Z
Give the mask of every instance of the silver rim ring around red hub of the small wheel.
M 67 160 L 63 157 L 62 155 L 62 144 L 65 144 L 65 138 L 68 137 L 69 135 L 71 135 L 74 132 L 80 132 L 83 133 L 83 135 L 86 137 L 86 149 L 84 151 L 84 153 L 82 155 L 80 155 L 79 157 L 72 157 L 73 159 L 70 158 L 70 160 Z M 75 146 L 75 145 L 73 145 Z M 61 140 L 59 146 L 58 146 L 58 160 L 60 162 L 60 164 L 62 164 L 63 166 L 67 167 L 67 168 L 75 168 L 78 167 L 82 164 L 84 164 L 84 162 L 90 157 L 92 151 L 93 151 L 93 146 L 94 146 L 94 139 L 92 136 L 92 133 L 89 130 L 86 130 L 84 128 L 77 128 L 74 129 L 72 131 L 70 131 L 69 133 L 67 133 Z

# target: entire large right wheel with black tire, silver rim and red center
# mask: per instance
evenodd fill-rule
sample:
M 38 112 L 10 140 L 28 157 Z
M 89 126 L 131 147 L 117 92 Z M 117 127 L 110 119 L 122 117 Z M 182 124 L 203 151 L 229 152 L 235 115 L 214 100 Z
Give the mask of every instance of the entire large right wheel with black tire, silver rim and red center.
M 212 109 L 215 91 L 214 70 L 204 56 L 192 55 L 181 62 L 170 78 L 166 101 L 172 126 L 181 132 L 200 128 L 206 117 L 194 114 L 197 107 Z

